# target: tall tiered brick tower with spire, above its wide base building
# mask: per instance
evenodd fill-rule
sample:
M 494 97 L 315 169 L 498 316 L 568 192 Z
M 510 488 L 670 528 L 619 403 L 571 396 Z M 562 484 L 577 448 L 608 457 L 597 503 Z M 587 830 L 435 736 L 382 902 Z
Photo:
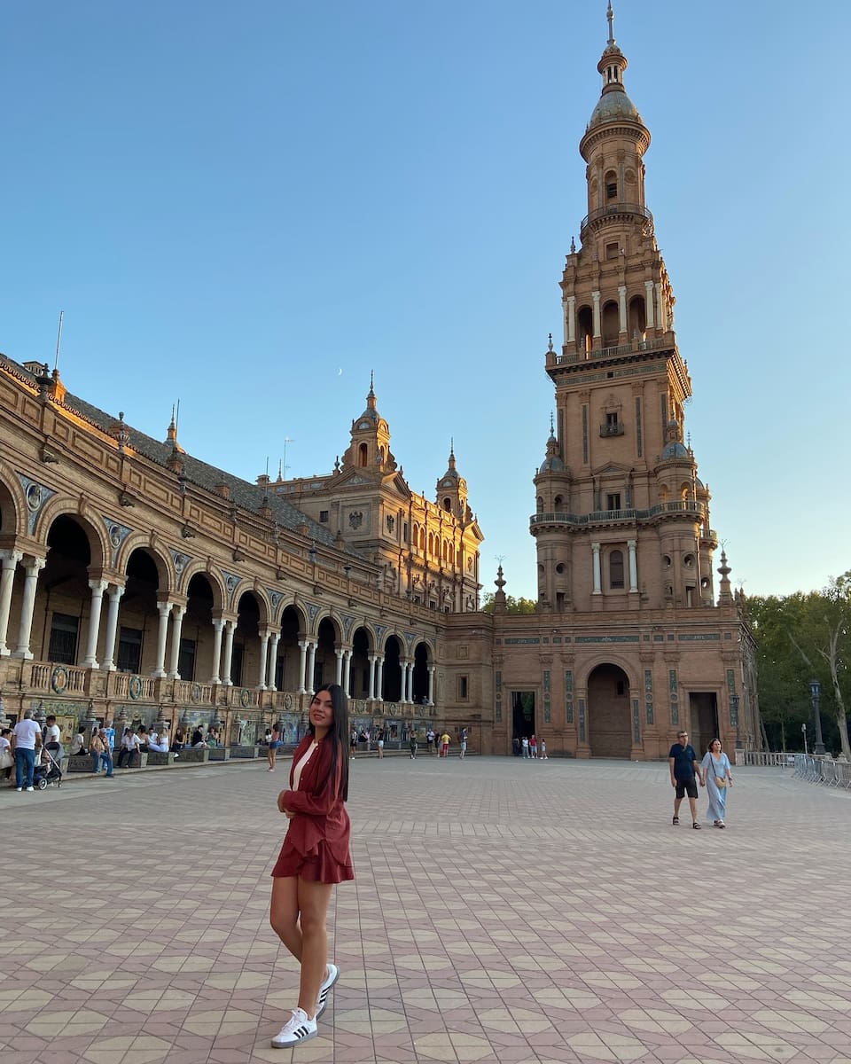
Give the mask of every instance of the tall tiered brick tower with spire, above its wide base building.
M 587 214 L 562 275 L 564 335 L 550 339 L 555 426 L 535 477 L 538 609 L 713 604 L 710 493 L 683 443 L 691 381 L 645 198 L 650 131 L 608 39 L 580 153 Z

